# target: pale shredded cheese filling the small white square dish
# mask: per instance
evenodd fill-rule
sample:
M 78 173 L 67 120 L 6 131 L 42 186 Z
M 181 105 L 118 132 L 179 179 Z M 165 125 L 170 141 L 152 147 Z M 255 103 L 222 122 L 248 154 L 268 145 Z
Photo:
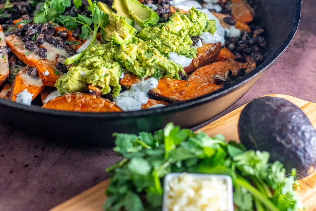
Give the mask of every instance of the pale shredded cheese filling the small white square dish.
M 182 174 L 173 178 L 168 186 L 168 211 L 227 211 L 228 185 L 217 177 L 197 178 Z

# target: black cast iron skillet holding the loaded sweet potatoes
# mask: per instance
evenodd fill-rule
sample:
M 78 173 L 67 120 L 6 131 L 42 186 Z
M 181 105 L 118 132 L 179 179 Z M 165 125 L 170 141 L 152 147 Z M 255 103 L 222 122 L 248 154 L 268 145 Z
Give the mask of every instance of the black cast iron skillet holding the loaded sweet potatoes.
M 243 96 L 289 46 L 301 16 L 302 0 L 252 0 L 266 34 L 264 62 L 245 78 L 199 98 L 172 106 L 115 113 L 79 113 L 24 106 L 0 99 L 0 121 L 27 133 L 76 143 L 112 145 L 114 132 L 138 133 L 168 122 L 193 127 L 218 115 Z

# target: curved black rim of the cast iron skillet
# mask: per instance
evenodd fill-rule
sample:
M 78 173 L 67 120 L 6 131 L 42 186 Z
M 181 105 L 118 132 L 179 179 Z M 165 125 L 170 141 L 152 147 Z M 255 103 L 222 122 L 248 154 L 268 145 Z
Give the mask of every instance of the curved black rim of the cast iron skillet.
M 294 35 L 297 31 L 298 24 L 301 18 L 301 3 L 302 0 L 295 0 L 295 15 L 293 19 L 292 26 L 290 28 L 290 32 L 287 38 L 283 41 L 282 45 L 276 49 L 276 51 L 262 64 L 260 64 L 256 69 L 246 75 L 245 78 L 236 80 L 234 83 L 229 84 L 225 88 L 221 90 L 217 90 L 210 94 L 188 100 L 185 102 L 180 102 L 175 105 L 166 106 L 166 107 L 159 107 L 154 109 L 144 109 L 139 111 L 126 111 L 126 112 L 104 112 L 104 113 L 91 113 L 91 112 L 74 112 L 74 111 L 60 111 L 60 110 L 52 110 L 52 109 L 42 109 L 38 106 L 25 106 L 21 105 L 6 99 L 0 98 L 0 104 L 5 107 L 9 107 L 9 109 L 20 109 L 24 112 L 28 113 L 37 113 L 39 115 L 51 115 L 54 117 L 75 117 L 75 118 L 135 118 L 135 117 L 145 117 L 145 116 L 156 116 L 161 114 L 173 113 L 178 112 L 184 109 L 190 109 L 195 106 L 202 105 L 204 103 L 210 102 L 214 99 L 221 97 L 221 95 L 228 93 L 238 86 L 245 84 L 247 81 L 254 78 L 260 72 L 266 70 L 270 67 L 277 59 L 281 56 L 281 54 L 289 47 L 289 44 L 294 38 Z

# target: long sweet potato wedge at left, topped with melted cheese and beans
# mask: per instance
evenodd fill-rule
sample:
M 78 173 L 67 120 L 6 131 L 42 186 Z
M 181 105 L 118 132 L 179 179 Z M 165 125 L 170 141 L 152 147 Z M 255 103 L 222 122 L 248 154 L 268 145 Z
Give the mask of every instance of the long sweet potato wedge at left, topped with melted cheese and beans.
M 58 74 L 55 73 L 55 65 L 67 57 L 65 49 L 58 49 L 52 44 L 45 42 L 41 47 L 47 49 L 47 57 L 40 58 L 37 54 L 25 49 L 25 43 L 15 34 L 7 36 L 6 42 L 17 58 L 27 65 L 38 68 L 39 76 L 43 80 L 44 85 L 54 86 L 56 80 L 62 74 L 61 72 L 58 72 Z

